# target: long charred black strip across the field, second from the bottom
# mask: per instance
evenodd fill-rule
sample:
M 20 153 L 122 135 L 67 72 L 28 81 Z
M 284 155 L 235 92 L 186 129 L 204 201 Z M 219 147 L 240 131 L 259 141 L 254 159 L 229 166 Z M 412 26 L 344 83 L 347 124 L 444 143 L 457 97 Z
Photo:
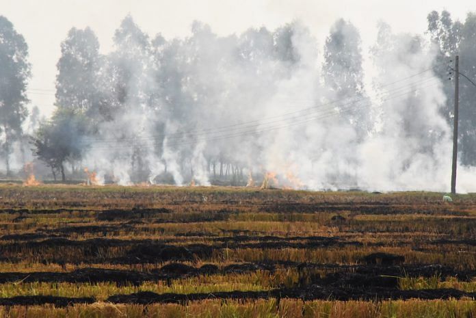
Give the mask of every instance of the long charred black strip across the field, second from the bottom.
M 471 281 L 476 271 L 461 271 L 442 265 L 326 265 L 315 263 L 235 263 L 224 267 L 204 264 L 200 267 L 183 263 L 168 263 L 152 271 L 131 271 L 119 269 L 83 268 L 70 272 L 0 273 L 0 283 L 5 282 L 114 282 L 118 285 L 141 284 L 146 281 L 170 280 L 198 275 L 212 274 L 243 274 L 258 270 L 276 271 L 295 268 L 299 271 L 306 284 L 319 284 L 326 287 L 393 287 L 397 288 L 398 278 L 404 277 L 457 277 L 461 281 Z M 313 270 L 321 269 L 325 275 L 313 274 Z M 301 283 L 300 283 L 301 284 Z

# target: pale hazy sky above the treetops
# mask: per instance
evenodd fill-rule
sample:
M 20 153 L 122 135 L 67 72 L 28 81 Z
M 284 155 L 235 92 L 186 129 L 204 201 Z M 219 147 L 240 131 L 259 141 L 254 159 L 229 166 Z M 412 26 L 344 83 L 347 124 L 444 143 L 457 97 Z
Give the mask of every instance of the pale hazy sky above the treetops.
M 265 25 L 274 29 L 299 19 L 319 40 L 337 18 L 354 23 L 361 32 L 364 49 L 375 38 L 379 20 L 395 31 L 421 33 L 431 10 L 449 10 L 464 19 L 476 11 L 475 1 L 460 0 L 0 0 L 6 16 L 23 34 L 29 46 L 33 77 L 29 98 L 44 114 L 53 109 L 59 44 L 71 27 L 90 26 L 99 38 L 101 51 L 111 49 L 114 30 L 127 14 L 151 36 L 187 36 L 192 21 L 211 25 L 220 35 L 240 33 Z

